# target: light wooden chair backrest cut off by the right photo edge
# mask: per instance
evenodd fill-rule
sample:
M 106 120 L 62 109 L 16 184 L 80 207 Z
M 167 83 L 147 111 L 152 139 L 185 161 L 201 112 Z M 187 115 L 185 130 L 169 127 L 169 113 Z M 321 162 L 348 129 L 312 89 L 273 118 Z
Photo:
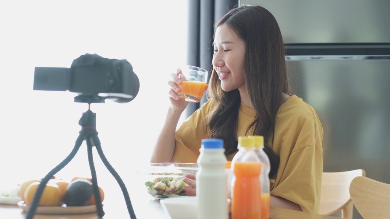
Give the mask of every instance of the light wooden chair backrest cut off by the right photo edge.
M 356 177 L 351 182 L 349 194 L 364 219 L 390 218 L 390 184 Z

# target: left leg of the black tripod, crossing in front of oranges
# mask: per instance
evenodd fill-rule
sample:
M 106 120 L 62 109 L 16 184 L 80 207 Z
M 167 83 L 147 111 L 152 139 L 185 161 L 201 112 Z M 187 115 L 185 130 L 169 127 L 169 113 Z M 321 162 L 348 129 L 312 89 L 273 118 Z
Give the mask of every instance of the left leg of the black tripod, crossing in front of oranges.
M 80 134 L 76 140 L 76 143 L 74 144 L 74 148 L 71 151 L 71 153 L 64 159 L 64 161 L 60 162 L 53 170 L 51 170 L 42 180 L 41 184 L 39 184 L 37 191 L 35 192 L 34 198 L 32 200 L 32 203 L 30 205 L 30 209 L 27 212 L 26 219 L 32 219 L 32 217 L 35 214 L 35 211 L 37 210 L 38 203 L 41 200 L 42 192 L 44 187 L 46 186 L 46 183 L 49 182 L 49 180 L 54 176 L 54 174 L 58 173 L 58 171 L 62 170 L 68 164 L 73 157 L 76 155 L 78 149 L 82 145 L 84 141 L 83 132 L 80 131 Z

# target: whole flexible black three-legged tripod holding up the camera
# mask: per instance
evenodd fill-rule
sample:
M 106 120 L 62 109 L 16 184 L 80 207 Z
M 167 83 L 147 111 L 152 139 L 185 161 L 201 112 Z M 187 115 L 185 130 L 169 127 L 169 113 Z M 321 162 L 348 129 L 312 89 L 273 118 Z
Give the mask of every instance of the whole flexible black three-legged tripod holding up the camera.
M 76 139 L 76 143 L 74 145 L 73 150 L 71 153 L 64 159 L 64 161 L 60 162 L 53 170 L 51 170 L 42 180 L 41 184 L 39 184 L 37 191 L 35 193 L 34 199 L 32 200 L 32 203 L 30 205 L 30 208 L 27 212 L 26 219 L 32 219 L 32 217 L 35 214 L 35 211 L 37 209 L 39 200 L 41 200 L 42 192 L 44 187 L 46 186 L 46 183 L 56 174 L 58 171 L 62 170 L 76 155 L 78 149 L 82 145 L 83 141 L 87 141 L 87 152 L 88 152 L 88 161 L 89 161 L 89 167 L 91 170 L 92 175 L 92 188 L 94 191 L 94 196 L 96 199 L 96 209 L 97 209 L 97 215 L 99 217 L 103 217 L 105 214 L 103 211 L 103 206 L 101 203 L 101 197 L 99 192 L 99 187 L 97 186 L 97 178 L 96 178 L 96 170 L 94 165 L 94 160 L 92 157 L 92 147 L 95 146 L 97 153 L 99 154 L 100 159 L 103 161 L 103 164 L 106 166 L 106 168 L 110 171 L 110 173 L 113 175 L 113 177 L 117 180 L 119 186 L 121 187 L 124 199 L 126 201 L 126 206 L 130 215 L 131 219 L 136 219 L 133 206 L 131 205 L 131 201 L 129 198 L 129 193 L 126 189 L 126 186 L 124 185 L 121 177 L 119 177 L 118 173 L 114 170 L 114 168 L 111 166 L 111 164 L 107 161 L 105 155 L 103 154 L 103 150 L 101 150 L 100 140 L 97 137 L 97 131 L 96 131 L 96 113 L 92 112 L 90 110 L 90 103 L 88 104 L 88 111 L 83 113 L 82 117 L 80 118 L 79 125 L 81 125 L 81 131 L 79 132 L 79 136 Z

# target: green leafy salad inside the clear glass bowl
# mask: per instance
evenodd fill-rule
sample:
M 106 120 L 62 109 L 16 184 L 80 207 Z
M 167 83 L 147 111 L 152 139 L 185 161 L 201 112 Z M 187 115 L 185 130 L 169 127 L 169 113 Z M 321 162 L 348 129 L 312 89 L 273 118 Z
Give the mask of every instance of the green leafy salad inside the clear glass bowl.
M 185 196 L 184 186 L 189 186 L 183 181 L 183 177 L 159 177 L 153 181 L 145 182 L 148 193 L 152 196 L 160 195 L 167 197 Z

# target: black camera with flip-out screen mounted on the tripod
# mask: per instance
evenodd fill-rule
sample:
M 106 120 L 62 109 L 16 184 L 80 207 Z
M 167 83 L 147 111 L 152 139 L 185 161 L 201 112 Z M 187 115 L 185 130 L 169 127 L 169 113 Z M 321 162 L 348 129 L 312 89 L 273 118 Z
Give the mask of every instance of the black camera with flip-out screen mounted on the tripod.
M 139 80 L 126 60 L 85 54 L 70 68 L 35 67 L 34 90 L 77 93 L 75 102 L 130 102 L 138 94 Z

